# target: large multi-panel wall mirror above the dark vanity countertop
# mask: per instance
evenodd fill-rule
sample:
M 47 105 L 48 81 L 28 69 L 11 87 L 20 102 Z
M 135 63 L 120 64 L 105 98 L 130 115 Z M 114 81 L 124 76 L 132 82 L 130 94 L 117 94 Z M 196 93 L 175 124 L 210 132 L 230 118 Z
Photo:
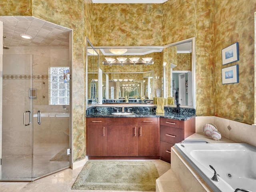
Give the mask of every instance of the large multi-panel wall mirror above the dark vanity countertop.
M 173 97 L 173 105 L 196 107 L 195 38 L 165 46 L 93 47 L 88 41 L 87 49 L 96 53 L 87 58 L 88 104 L 160 96 Z

